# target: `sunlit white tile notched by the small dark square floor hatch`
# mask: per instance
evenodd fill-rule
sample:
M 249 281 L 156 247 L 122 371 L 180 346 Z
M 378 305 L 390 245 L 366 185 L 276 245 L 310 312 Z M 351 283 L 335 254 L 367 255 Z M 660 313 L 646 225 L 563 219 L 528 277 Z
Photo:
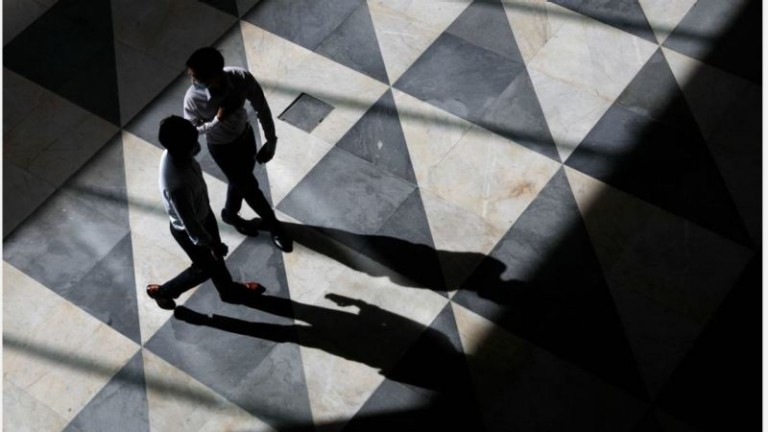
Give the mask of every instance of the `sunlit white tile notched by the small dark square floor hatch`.
M 297 48 L 253 25 L 243 23 L 242 30 L 248 67 L 266 88 L 273 116 L 282 113 L 302 93 L 334 107 L 312 131 L 313 136 L 327 143 L 337 142 L 388 89 L 373 78 Z M 275 46 L 269 47 L 271 43 Z M 267 54 L 273 52 L 277 59 L 270 61 Z

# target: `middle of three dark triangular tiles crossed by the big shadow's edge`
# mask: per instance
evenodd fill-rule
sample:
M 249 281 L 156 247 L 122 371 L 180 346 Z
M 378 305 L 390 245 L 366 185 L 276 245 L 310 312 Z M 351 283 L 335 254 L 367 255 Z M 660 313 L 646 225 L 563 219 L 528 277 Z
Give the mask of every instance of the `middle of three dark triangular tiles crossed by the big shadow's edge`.
M 749 244 L 733 199 L 660 51 L 566 164 Z

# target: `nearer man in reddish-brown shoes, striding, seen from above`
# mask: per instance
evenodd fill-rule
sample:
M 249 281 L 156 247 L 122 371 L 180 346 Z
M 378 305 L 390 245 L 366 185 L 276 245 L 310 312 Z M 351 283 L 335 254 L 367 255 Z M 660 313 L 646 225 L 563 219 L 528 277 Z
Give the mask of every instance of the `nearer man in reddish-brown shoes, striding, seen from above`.
M 263 289 L 256 282 L 234 282 L 224 263 L 227 245 L 221 242 L 203 172 L 194 158 L 200 151 L 197 138 L 195 127 L 179 116 L 160 123 L 160 144 L 166 149 L 160 157 L 160 193 L 171 235 L 192 260 L 191 266 L 170 281 L 147 286 L 147 295 L 163 309 L 173 309 L 175 298 L 208 279 L 213 280 L 221 299 L 230 303 Z

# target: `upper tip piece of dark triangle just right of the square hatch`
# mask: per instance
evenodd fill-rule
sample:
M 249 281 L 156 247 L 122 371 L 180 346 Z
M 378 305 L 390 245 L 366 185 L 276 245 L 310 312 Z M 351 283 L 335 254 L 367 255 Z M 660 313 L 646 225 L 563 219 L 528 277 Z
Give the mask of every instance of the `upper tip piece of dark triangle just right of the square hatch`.
M 405 181 L 416 184 L 408 145 L 391 90 L 336 143 L 344 149 Z

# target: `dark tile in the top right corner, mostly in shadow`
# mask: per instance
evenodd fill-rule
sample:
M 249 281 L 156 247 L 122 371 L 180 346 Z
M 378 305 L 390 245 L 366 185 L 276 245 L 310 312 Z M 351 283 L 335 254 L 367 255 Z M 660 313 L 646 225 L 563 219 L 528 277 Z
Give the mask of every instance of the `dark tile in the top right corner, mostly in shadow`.
M 762 3 L 697 1 L 664 46 L 760 84 Z

